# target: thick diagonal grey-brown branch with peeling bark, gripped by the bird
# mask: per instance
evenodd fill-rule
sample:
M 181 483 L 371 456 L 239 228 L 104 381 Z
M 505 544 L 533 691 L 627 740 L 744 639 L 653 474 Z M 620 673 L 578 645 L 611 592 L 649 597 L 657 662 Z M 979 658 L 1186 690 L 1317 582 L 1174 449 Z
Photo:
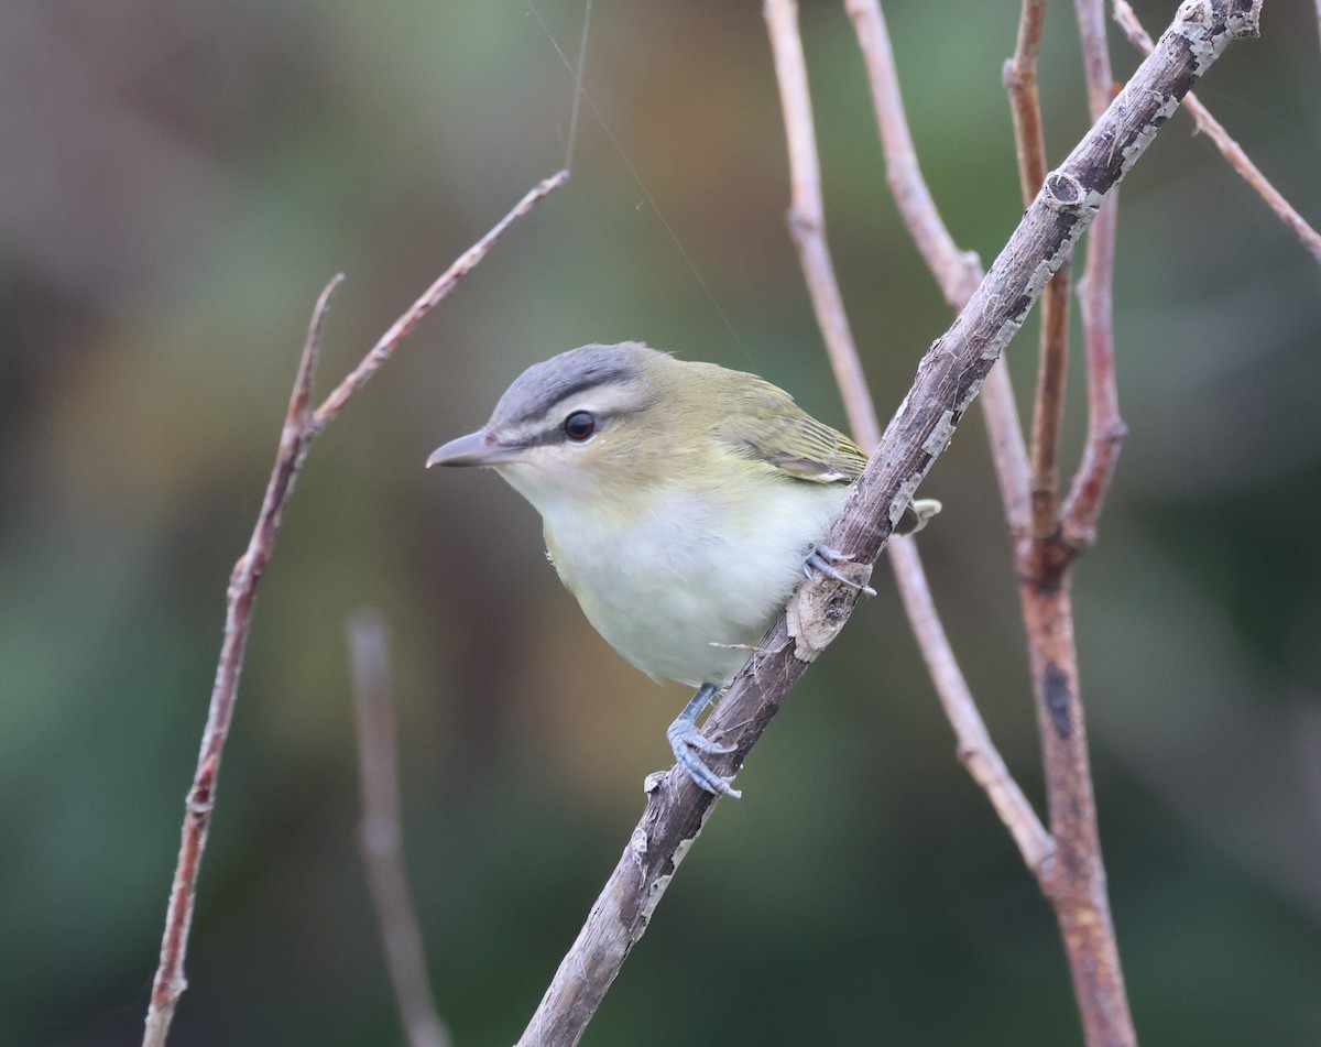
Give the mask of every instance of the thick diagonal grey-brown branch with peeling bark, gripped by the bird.
M 1196 15 L 1207 17 L 1190 17 Z M 1053 271 L 1069 256 L 1096 204 L 1140 159 L 1173 104 L 1230 41 L 1256 34 L 1255 15 L 1247 0 L 1181 8 L 1174 32 L 1161 38 L 1129 81 L 1131 104 L 1111 107 L 1046 178 L 987 279 L 922 358 L 909 395 L 826 535 L 828 545 L 848 549 L 867 563 L 876 559 L 893 521 L 945 451 L 955 424 Z M 729 755 L 712 760 L 713 769 L 728 775 L 742 765 L 785 695 L 843 627 L 855 603 L 856 594 L 835 583 L 818 580 L 798 591 L 707 722 L 707 734 L 733 746 Z M 579 1042 L 715 802 L 679 767 L 647 780 L 646 810 L 519 1044 Z

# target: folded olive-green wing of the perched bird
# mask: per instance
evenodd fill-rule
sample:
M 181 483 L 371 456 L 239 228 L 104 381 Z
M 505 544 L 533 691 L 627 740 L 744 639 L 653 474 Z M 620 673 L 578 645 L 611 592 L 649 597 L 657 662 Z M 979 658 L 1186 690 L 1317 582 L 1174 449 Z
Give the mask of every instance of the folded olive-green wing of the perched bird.
M 716 426 L 715 436 L 736 453 L 795 480 L 852 483 L 867 468 L 863 448 L 770 382 L 752 383 Z

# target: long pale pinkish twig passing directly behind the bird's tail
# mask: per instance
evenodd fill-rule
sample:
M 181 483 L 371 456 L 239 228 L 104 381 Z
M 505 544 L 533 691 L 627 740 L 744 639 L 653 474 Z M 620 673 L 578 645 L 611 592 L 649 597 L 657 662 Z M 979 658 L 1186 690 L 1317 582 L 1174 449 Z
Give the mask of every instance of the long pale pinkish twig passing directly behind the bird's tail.
M 881 439 L 881 426 L 876 416 L 876 405 L 863 377 L 863 365 L 857 345 L 849 332 L 844 315 L 843 296 L 835 279 L 830 246 L 826 241 L 824 213 L 822 198 L 820 165 L 816 156 L 816 132 L 812 126 L 811 94 L 807 87 L 807 63 L 803 59 L 802 37 L 798 32 L 798 5 L 794 0 L 768 0 L 765 4 L 766 28 L 770 33 L 771 53 L 775 59 L 775 78 L 779 85 L 781 106 L 785 114 L 785 137 L 789 145 L 789 171 L 793 193 L 793 210 L 789 227 L 798 247 L 798 258 L 803 270 L 818 320 L 831 317 L 832 323 L 820 323 L 826 350 L 832 362 L 836 379 L 844 401 L 848 423 L 857 442 L 867 448 L 875 448 Z M 890 144 L 900 145 L 906 131 L 892 135 Z M 906 144 L 909 156 L 911 140 Z M 917 172 L 915 157 L 911 171 Z M 921 178 L 921 172 L 917 172 Z M 925 194 L 925 197 L 923 197 Z M 925 200 L 925 202 L 923 202 Z M 931 197 L 925 190 L 914 196 L 913 210 L 926 206 L 934 209 Z M 807 215 L 810 221 L 801 221 Z M 933 238 L 941 239 L 939 251 L 945 252 L 948 264 L 967 274 L 967 256 L 951 252 L 952 239 L 945 231 L 939 217 L 929 218 L 926 227 Z M 974 259 L 972 264 L 976 264 Z M 962 291 L 962 288 L 959 288 Z M 941 624 L 931 588 L 927 584 L 922 561 L 913 541 L 892 542 L 886 546 L 890 566 L 900 576 L 900 594 L 913 633 L 922 656 L 931 666 L 931 679 L 941 697 L 941 703 L 954 727 L 960 759 L 978 773 L 979 784 L 987 789 L 996 812 L 1005 820 L 1016 841 L 1025 847 L 1024 861 L 1036 867 L 1049 851 L 1049 838 L 1022 789 L 1009 775 L 1004 760 L 995 750 L 978 713 L 972 693 L 959 669 L 954 649 Z M 967 757 L 963 755 L 968 754 Z M 974 755 L 975 754 L 975 755 Z M 979 777 L 978 775 L 982 775 Z M 1000 802 L 1003 800 L 1004 802 Z M 1024 828 L 1018 828 L 1024 826 Z

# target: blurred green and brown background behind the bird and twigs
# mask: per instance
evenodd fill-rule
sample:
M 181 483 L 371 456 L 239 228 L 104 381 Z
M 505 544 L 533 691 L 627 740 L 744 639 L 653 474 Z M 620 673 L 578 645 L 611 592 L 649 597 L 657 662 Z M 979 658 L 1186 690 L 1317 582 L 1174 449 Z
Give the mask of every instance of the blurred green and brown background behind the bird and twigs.
M 1173 8 L 1140 5 L 1153 30 Z M 573 53 L 581 5 L 538 9 Z M 1000 89 L 1017 7 L 886 11 L 931 189 L 989 262 L 1021 210 Z M 948 316 L 886 193 L 848 20 L 811 3 L 803 25 L 831 243 L 888 415 Z M 1263 28 L 1202 98 L 1317 222 L 1317 25 L 1272 0 Z M 1112 52 L 1125 78 L 1135 54 Z M 460 1044 L 518 1036 L 668 764 L 686 693 L 590 631 L 511 489 L 424 473 L 432 448 L 532 361 L 625 338 L 843 420 L 785 233 L 758 5 L 598 3 L 587 82 L 610 132 L 584 111 L 568 188 L 312 448 L 258 601 L 178 1047 L 400 1042 L 355 849 L 353 608 L 392 629 L 410 871 Z M 1042 82 L 1057 163 L 1086 126 L 1070 5 Z M 312 303 L 347 272 L 328 389 L 559 167 L 571 78 L 520 0 L 7 0 L 0 89 L 0 1043 L 118 1047 L 140 1036 L 226 579 Z M 1123 190 L 1131 435 L 1077 576 L 1148 1044 L 1321 1043 L 1318 288 L 1177 116 Z M 1009 350 L 1024 405 L 1033 346 L 1029 328 Z M 948 629 L 1040 798 L 979 418 L 923 490 L 946 505 L 922 545 Z M 585 1043 L 1079 1042 L 1049 911 L 880 587 Z

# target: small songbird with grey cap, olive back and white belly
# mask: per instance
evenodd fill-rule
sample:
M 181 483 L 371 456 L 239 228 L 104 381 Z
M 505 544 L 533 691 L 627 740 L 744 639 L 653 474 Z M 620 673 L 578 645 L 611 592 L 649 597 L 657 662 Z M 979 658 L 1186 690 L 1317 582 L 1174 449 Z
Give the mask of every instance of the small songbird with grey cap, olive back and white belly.
M 731 748 L 696 720 L 748 660 L 803 575 L 848 582 L 820 545 L 867 455 L 753 374 L 641 342 L 534 364 L 485 427 L 427 465 L 487 465 L 542 514 L 560 580 L 596 631 L 654 679 L 697 687 L 666 732 L 712 793 L 738 796 L 703 755 Z M 918 530 L 939 502 L 917 501 Z

